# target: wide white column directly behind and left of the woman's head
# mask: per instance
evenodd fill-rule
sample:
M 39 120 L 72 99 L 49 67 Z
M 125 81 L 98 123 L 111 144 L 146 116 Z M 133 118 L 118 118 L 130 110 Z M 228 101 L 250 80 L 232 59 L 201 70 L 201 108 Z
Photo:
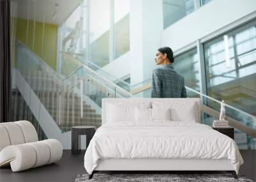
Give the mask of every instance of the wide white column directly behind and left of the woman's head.
M 152 77 L 154 57 L 161 45 L 163 1 L 131 0 L 130 52 L 131 85 Z

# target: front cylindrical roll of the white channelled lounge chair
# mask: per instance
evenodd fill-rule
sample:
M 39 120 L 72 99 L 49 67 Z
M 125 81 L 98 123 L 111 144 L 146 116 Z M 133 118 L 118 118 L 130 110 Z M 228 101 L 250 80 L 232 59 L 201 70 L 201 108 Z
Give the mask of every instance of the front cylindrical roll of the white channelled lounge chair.
M 0 152 L 0 166 L 10 163 L 12 171 L 18 172 L 56 162 L 61 156 L 61 143 L 55 139 L 48 139 L 7 146 Z

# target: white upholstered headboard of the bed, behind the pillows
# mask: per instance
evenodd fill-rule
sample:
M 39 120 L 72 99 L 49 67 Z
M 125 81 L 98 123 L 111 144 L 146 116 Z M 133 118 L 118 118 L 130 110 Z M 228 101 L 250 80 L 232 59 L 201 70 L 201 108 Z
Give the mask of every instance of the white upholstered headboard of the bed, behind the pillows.
M 154 104 L 189 105 L 195 103 L 196 123 L 200 123 L 200 98 L 103 98 L 102 99 L 102 125 L 106 123 L 108 104 L 136 105 L 148 103 L 150 108 Z

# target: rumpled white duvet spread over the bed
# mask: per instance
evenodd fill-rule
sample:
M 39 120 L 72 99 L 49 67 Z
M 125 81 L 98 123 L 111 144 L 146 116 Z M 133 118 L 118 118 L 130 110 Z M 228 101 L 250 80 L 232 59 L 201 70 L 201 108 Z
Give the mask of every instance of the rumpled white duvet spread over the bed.
M 236 142 L 210 126 L 192 122 L 115 122 L 100 126 L 84 155 L 89 174 L 99 159 L 229 159 L 238 174 L 243 158 Z

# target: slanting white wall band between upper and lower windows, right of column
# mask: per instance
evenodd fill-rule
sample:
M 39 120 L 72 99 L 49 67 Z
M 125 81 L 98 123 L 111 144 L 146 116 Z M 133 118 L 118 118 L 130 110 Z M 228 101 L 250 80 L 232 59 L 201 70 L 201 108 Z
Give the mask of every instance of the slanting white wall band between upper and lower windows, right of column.
M 212 0 L 164 29 L 162 45 L 175 50 L 256 11 L 255 0 Z

